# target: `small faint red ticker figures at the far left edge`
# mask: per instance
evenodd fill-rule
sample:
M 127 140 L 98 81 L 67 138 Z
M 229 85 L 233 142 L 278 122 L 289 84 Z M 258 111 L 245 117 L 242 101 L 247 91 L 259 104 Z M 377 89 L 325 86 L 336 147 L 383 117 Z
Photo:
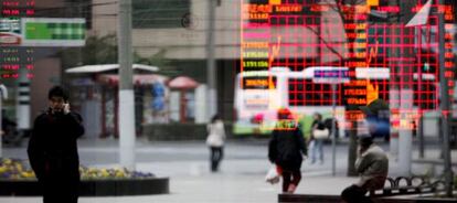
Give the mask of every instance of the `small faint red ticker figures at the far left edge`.
M 21 43 L 20 19 L 35 14 L 35 0 L 2 0 L 0 17 L 0 78 L 33 78 L 34 49 Z M 14 38 L 13 38 L 14 36 Z

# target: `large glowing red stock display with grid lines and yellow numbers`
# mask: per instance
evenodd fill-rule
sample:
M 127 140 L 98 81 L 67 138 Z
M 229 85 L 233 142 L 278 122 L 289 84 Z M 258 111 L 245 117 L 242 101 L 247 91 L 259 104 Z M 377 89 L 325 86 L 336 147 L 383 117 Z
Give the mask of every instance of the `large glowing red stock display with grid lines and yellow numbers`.
M 334 89 L 338 106 L 364 106 L 382 98 L 391 105 L 394 118 L 403 113 L 407 119 L 417 119 L 423 113 L 439 109 L 439 68 L 445 68 L 453 98 L 453 4 L 432 1 L 426 23 L 407 26 L 411 19 L 393 22 L 390 18 L 396 14 L 398 19 L 401 12 L 417 15 L 425 1 L 417 0 L 408 9 L 390 6 L 386 0 L 368 0 L 359 6 L 339 2 L 242 0 L 241 75 L 276 66 L 293 72 L 346 67 L 341 77 L 349 82 L 337 84 Z M 444 13 L 446 21 L 444 67 L 438 63 L 438 13 Z M 332 94 L 330 84 L 288 79 L 291 107 L 331 106 Z M 344 115 L 347 120 L 363 117 L 351 110 Z

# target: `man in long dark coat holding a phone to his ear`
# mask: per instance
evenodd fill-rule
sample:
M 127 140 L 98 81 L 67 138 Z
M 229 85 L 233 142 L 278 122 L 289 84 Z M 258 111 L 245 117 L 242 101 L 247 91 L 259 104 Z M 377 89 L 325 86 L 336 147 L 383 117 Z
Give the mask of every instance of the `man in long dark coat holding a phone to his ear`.
M 70 110 L 68 95 L 50 89 L 49 109 L 34 120 L 28 154 L 44 203 L 77 203 L 79 158 L 76 139 L 84 133 L 82 117 Z

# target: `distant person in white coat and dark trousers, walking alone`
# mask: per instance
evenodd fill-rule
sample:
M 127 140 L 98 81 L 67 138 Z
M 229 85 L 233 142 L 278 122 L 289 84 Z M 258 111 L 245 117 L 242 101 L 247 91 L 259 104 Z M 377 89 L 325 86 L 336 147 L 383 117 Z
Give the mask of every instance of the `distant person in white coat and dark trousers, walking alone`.
M 208 124 L 208 137 L 206 137 L 206 145 L 210 147 L 211 150 L 211 171 L 216 172 L 219 170 L 219 164 L 222 160 L 224 154 L 224 141 L 225 141 L 225 129 L 224 122 L 219 117 L 219 115 L 213 116 L 211 119 L 211 124 Z

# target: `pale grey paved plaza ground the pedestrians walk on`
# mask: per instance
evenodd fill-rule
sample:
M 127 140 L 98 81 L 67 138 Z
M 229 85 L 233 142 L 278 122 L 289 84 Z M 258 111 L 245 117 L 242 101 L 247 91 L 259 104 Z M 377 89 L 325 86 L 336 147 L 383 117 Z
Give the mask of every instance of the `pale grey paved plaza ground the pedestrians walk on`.
M 383 148 L 389 146 L 383 143 Z M 438 154 L 437 146 L 427 148 L 427 157 Z M 337 148 L 337 175 L 331 175 L 331 148 L 326 145 L 325 163 L 302 165 L 302 181 L 297 193 L 339 194 L 355 178 L 347 178 L 347 143 Z M 25 148 L 7 148 L 6 157 L 26 158 Z M 79 140 L 81 163 L 89 167 L 116 167 L 117 140 Z M 456 158 L 454 151 L 453 157 Z M 148 171 L 158 177 L 170 178 L 170 194 L 124 196 L 124 197 L 81 197 L 81 203 L 233 203 L 233 202 L 277 202 L 279 185 L 269 185 L 264 175 L 269 168 L 267 141 L 230 141 L 221 172 L 211 173 L 208 163 L 209 150 L 203 142 L 137 142 L 137 170 Z M 417 150 L 414 151 L 417 157 Z M 414 173 L 429 170 L 423 164 L 414 164 Z M 390 174 L 397 173 L 397 163 L 391 160 Z M 39 203 L 40 197 L 0 197 L 0 203 Z

